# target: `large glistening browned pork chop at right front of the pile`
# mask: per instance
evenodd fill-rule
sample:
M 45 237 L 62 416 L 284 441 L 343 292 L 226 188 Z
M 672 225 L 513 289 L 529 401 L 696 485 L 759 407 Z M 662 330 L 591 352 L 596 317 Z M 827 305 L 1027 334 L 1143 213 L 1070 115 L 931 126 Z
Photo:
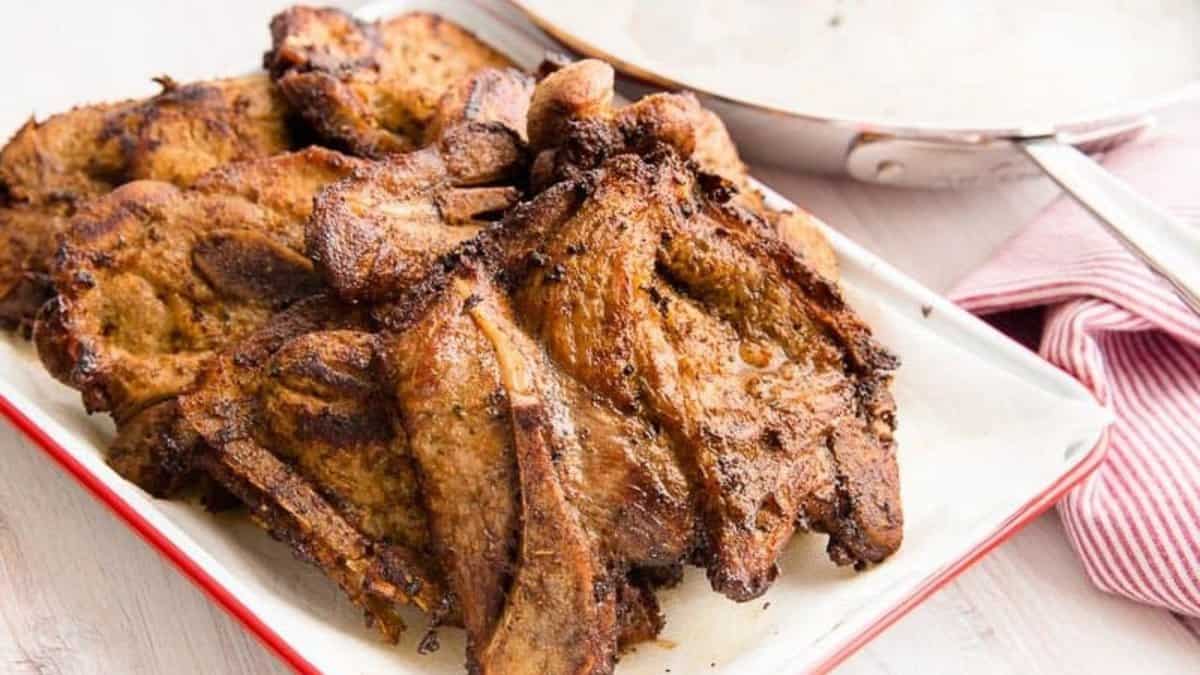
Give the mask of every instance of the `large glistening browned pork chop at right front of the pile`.
M 894 360 L 733 187 L 665 150 L 618 155 L 498 233 L 517 316 L 556 364 L 648 418 L 689 470 L 716 590 L 767 589 L 797 524 L 877 562 L 901 516 Z M 510 271 L 511 274 L 511 271 Z

